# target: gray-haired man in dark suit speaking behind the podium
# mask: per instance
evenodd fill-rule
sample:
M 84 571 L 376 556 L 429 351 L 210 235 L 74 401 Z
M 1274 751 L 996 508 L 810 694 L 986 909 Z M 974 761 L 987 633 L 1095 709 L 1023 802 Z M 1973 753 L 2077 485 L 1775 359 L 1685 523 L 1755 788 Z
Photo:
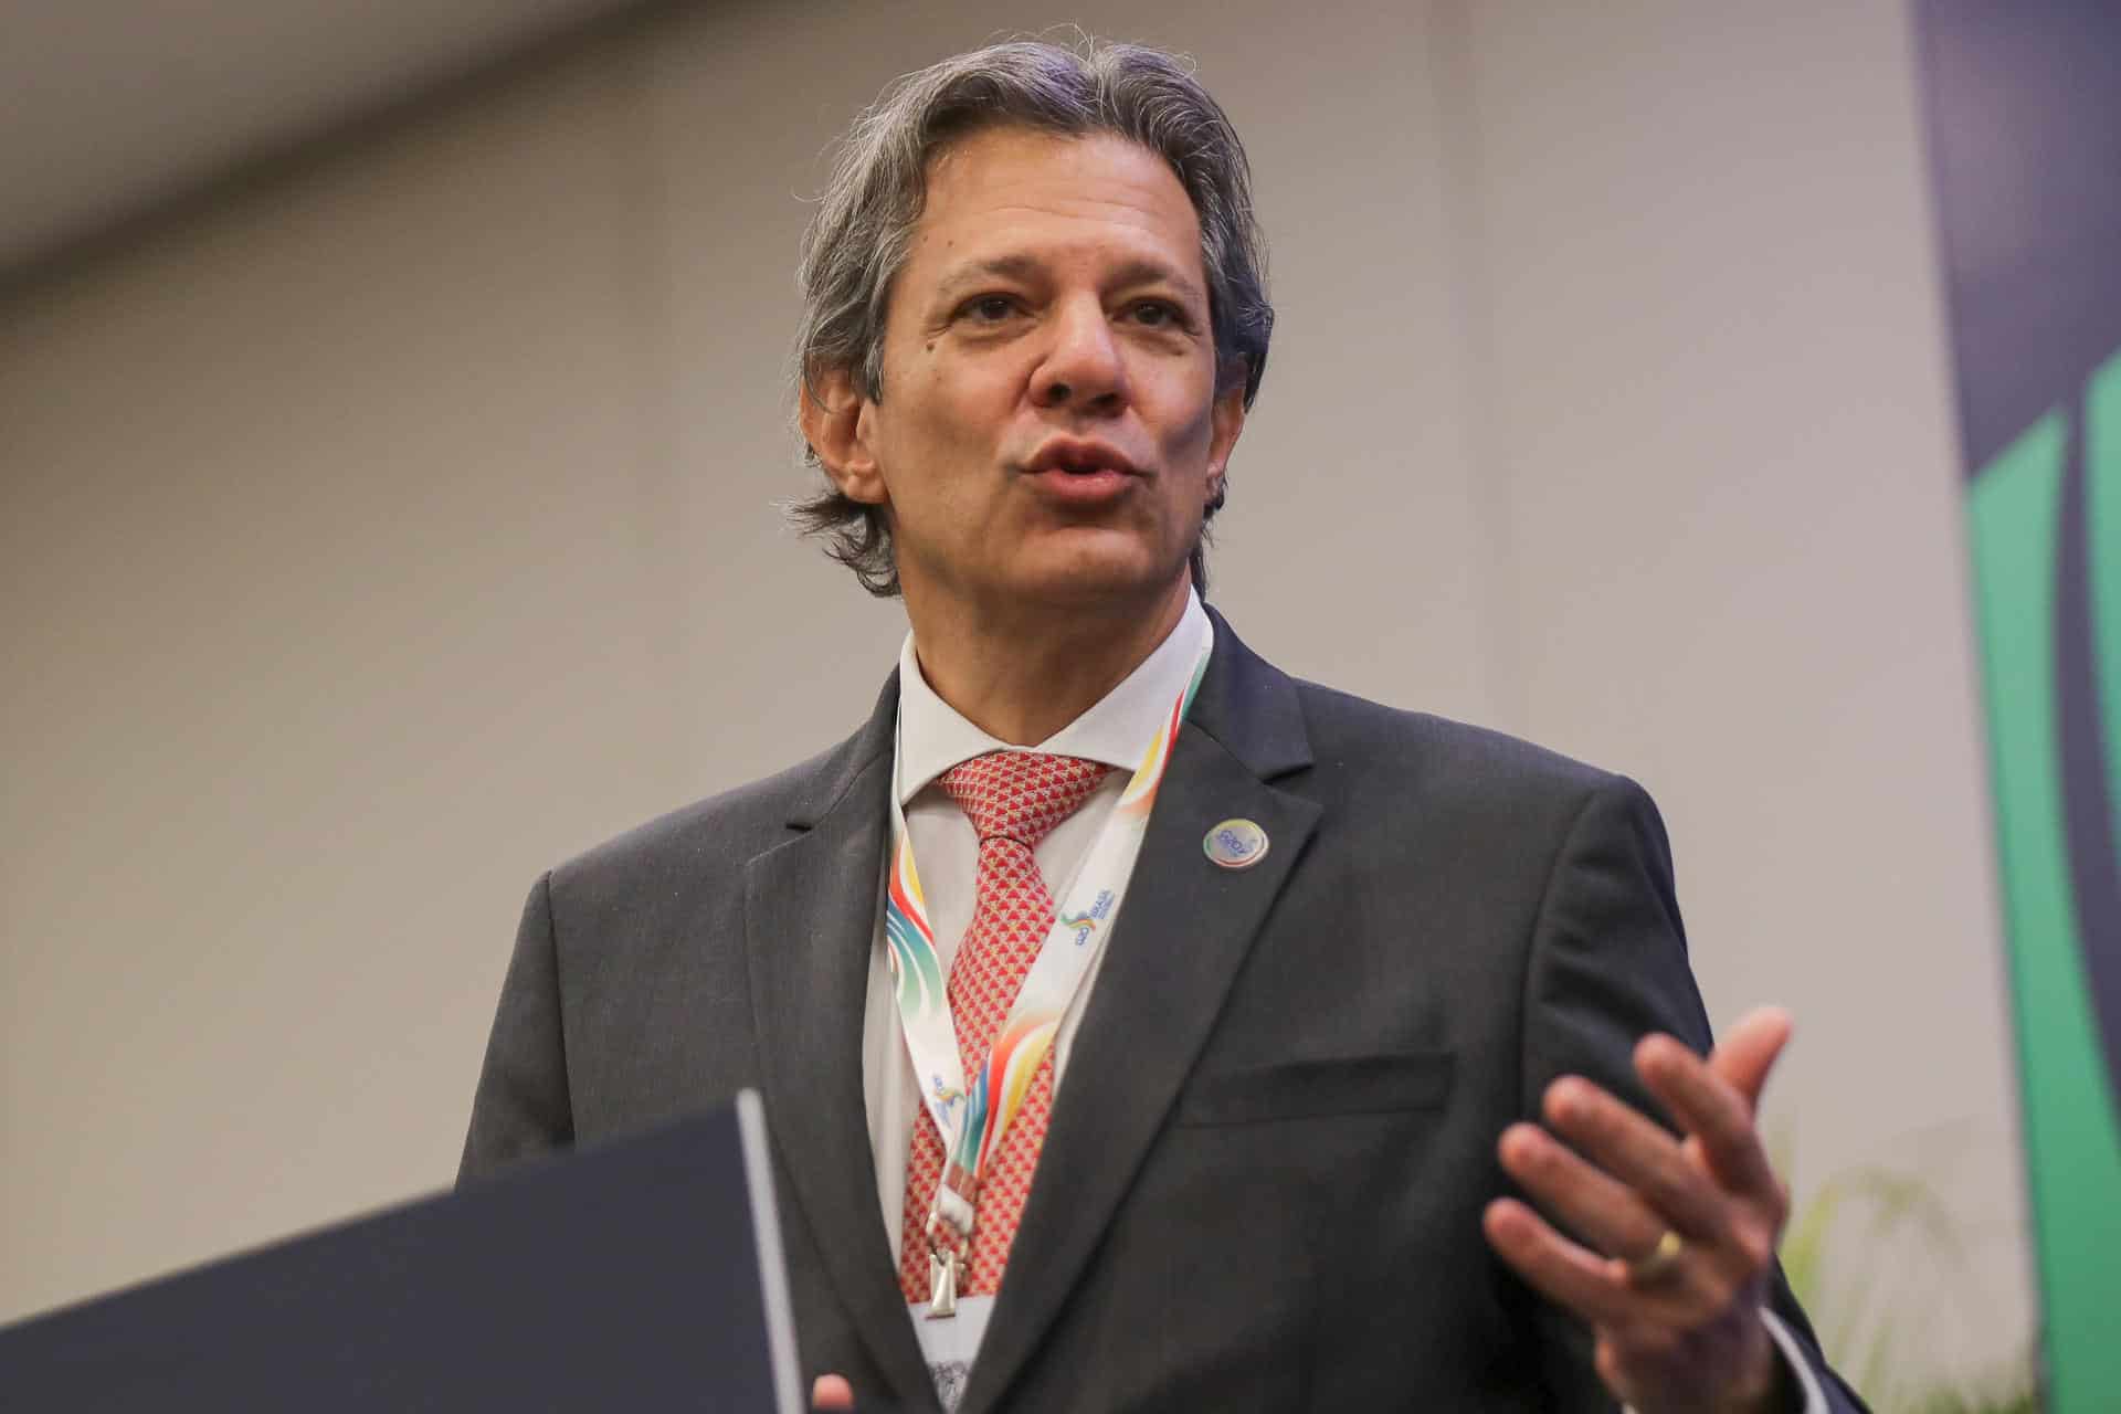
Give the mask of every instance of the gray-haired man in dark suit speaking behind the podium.
M 857 125 L 804 515 L 904 594 L 899 670 L 539 880 L 464 1174 L 757 1085 L 821 1408 L 1860 1408 L 1773 1259 L 1788 1022 L 1703 1058 L 1648 797 L 1200 604 L 1247 180 L 1145 49 L 991 47 Z

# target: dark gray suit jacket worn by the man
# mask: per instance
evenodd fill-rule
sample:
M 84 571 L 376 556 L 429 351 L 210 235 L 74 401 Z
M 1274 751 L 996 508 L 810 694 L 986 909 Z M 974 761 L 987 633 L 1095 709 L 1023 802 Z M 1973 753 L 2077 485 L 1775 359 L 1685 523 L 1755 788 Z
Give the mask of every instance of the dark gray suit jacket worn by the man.
M 895 710 L 893 678 L 834 750 L 537 882 L 462 1174 L 757 1085 L 804 1369 L 933 1410 L 861 1092 Z M 1205 859 L 1228 818 L 1260 865 Z M 1612 1408 L 1480 1208 L 1550 1079 L 1648 1104 L 1637 1037 L 1710 1045 L 1640 786 L 1217 619 L 1107 948 L 967 1414 Z

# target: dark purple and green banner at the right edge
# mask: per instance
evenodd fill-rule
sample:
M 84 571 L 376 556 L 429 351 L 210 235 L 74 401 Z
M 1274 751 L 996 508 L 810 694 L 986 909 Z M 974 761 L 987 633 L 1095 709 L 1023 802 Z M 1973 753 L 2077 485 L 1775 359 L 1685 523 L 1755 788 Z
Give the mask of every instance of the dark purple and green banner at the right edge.
M 1915 0 L 2051 1414 L 2121 1410 L 2121 4 Z

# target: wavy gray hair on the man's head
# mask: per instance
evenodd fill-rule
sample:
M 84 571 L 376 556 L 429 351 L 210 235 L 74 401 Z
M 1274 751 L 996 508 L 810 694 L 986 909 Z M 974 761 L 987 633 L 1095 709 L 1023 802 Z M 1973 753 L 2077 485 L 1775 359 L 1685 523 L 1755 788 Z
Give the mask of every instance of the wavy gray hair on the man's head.
M 1171 163 L 1200 220 L 1215 382 L 1220 390 L 1243 382 L 1251 407 L 1275 310 L 1266 301 L 1266 240 L 1251 210 L 1245 146 L 1186 59 L 1088 38 L 1080 49 L 1012 40 L 961 53 L 899 78 L 855 121 L 802 242 L 795 358 L 810 396 L 821 375 L 851 373 L 872 401 L 882 399 L 884 316 L 927 199 L 929 163 L 976 131 L 1010 125 L 1056 136 L 1116 134 Z M 819 464 L 817 447 L 806 445 L 804 460 Z M 1192 549 L 1203 596 L 1207 519 L 1222 502 L 1217 490 Z M 870 594 L 899 591 L 882 507 L 827 483 L 791 505 L 789 517 L 804 534 L 823 536 L 825 553 L 855 570 Z

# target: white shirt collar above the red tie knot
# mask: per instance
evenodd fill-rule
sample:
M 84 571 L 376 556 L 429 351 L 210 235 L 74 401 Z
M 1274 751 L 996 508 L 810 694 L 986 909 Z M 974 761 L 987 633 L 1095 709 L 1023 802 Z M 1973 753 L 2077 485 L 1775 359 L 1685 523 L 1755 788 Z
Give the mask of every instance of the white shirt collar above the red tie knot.
M 1179 615 L 1177 628 L 1156 644 L 1156 651 L 1141 659 L 1141 666 L 1126 674 L 1118 687 L 1099 697 L 1097 706 L 1031 750 L 1103 761 L 1133 772 L 1141 765 L 1141 750 L 1156 736 L 1164 712 L 1171 710 L 1171 700 L 1186 691 L 1194 659 L 1211 632 L 1200 596 L 1188 589 L 1186 613 Z M 980 731 L 935 695 L 935 689 L 921 676 L 914 636 L 906 634 L 906 644 L 899 649 L 899 803 L 910 803 L 952 765 L 991 750 L 1020 748 Z

